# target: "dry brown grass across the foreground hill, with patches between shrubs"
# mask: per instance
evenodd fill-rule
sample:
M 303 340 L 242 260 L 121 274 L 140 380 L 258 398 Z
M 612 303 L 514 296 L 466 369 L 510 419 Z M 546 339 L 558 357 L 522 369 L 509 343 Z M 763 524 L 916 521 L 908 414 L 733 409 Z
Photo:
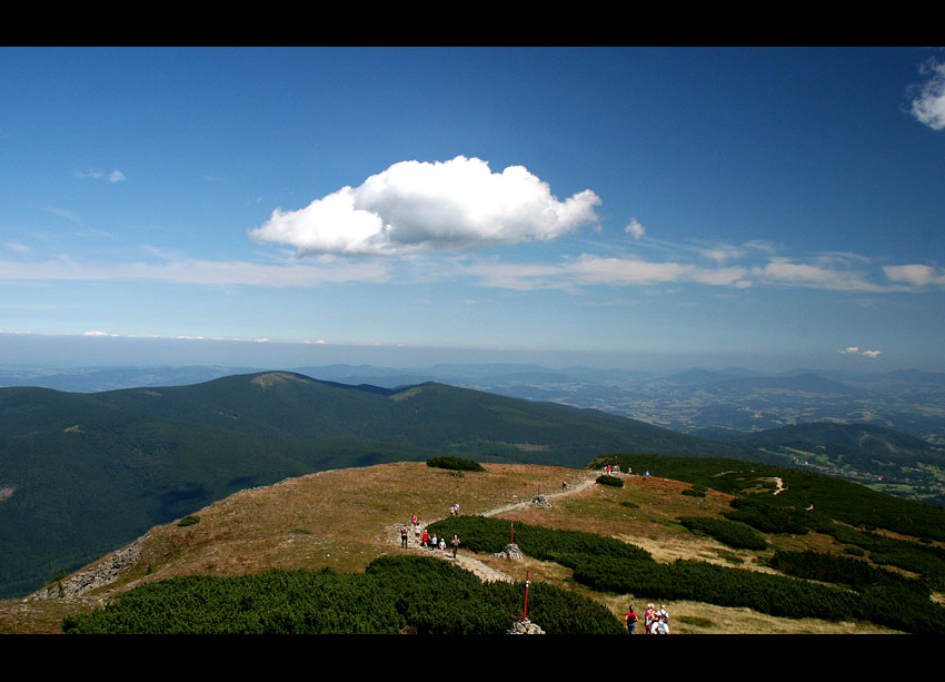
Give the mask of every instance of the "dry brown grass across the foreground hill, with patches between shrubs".
M 588 475 L 597 475 L 564 467 L 485 467 L 484 473 L 458 476 L 424 463 L 395 463 L 321 472 L 242 491 L 197 512 L 200 521 L 196 525 L 152 528 L 142 540 L 136 570 L 98 596 L 112 596 L 142 581 L 192 573 L 240 575 L 273 567 L 362 571 L 377 556 L 402 552 L 398 528 L 411 514 L 429 523 L 447 516 L 454 502 L 460 503 L 464 514 L 481 514 L 530 501 L 536 493 L 559 492 L 561 481 L 574 486 Z M 553 498 L 550 507 L 526 506 L 500 516 L 615 536 L 648 550 L 660 562 L 699 559 L 732 565 L 742 560 L 742 567 L 764 570 L 754 563 L 758 553 L 725 547 L 673 523 L 678 516 L 717 515 L 728 507 L 727 495 L 710 491 L 706 497 L 690 497 L 682 494 L 687 487 L 675 481 L 633 476 L 625 480 L 624 488 L 593 485 Z M 802 543 L 792 538 L 778 542 Z M 593 593 L 574 583 L 569 570 L 554 563 L 528 559 L 510 564 L 491 556 L 479 559 L 517 580 L 529 574 L 533 581 L 549 581 L 587 594 L 620 617 L 628 602 L 643 613 L 646 603 L 654 601 L 647 595 Z M 0 605 L 0 632 L 58 632 L 64 615 L 90 609 L 91 603 L 8 602 Z M 746 609 L 690 602 L 667 606 L 676 633 L 886 632 L 869 625 L 776 619 Z M 687 624 L 685 616 L 706 619 L 709 624 Z

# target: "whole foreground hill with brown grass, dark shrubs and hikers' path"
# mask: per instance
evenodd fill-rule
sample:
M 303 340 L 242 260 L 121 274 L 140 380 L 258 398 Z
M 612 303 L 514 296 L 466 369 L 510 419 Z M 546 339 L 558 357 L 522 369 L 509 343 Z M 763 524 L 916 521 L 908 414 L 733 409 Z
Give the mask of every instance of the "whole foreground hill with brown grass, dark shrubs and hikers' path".
M 598 613 L 597 623 L 619 623 L 628 601 L 640 612 L 664 603 L 674 633 L 945 632 L 945 512 L 757 463 L 656 455 L 619 463 L 656 475 L 620 473 L 614 487 L 593 484 L 599 461 L 585 471 L 487 464 L 465 475 L 400 462 L 241 491 L 198 510 L 190 525 L 157 526 L 34 599 L 0 605 L 0 632 L 58 632 L 63 616 L 76 632 L 370 632 L 359 627 L 391 622 L 401 632 L 477 632 L 450 620 L 478 613 L 472 601 L 457 612 L 402 599 L 404 580 L 421 580 L 430 594 L 455 584 L 452 562 L 434 576 L 430 551 L 416 542 L 400 548 L 398 528 L 410 514 L 439 532 L 458 528 L 464 567 L 478 562 L 517 581 L 500 590 L 514 595 L 508 622 L 530 574 L 529 614 L 550 632 L 577 624 L 567 610 L 584 606 L 544 590 L 603 605 L 609 615 Z M 563 480 L 568 493 L 555 496 Z M 551 493 L 550 504 L 533 504 L 536 491 Z M 450 518 L 455 501 L 464 514 Z M 525 559 L 493 555 L 510 522 Z M 746 535 L 760 544 L 743 546 Z M 88 583 L 93 576 L 103 580 Z M 396 594 L 379 603 L 382 585 Z M 467 600 L 480 599 L 462 585 Z M 115 609 L 87 616 L 101 600 Z M 387 620 L 371 624 L 374 611 L 352 603 L 374 603 Z

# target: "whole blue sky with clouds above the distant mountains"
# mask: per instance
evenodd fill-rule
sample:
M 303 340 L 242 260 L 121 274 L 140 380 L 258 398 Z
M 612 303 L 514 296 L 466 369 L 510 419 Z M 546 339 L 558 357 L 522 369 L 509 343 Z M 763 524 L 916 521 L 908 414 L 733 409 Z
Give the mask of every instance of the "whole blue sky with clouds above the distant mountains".
M 0 336 L 945 369 L 943 303 L 945 50 L 0 49 Z

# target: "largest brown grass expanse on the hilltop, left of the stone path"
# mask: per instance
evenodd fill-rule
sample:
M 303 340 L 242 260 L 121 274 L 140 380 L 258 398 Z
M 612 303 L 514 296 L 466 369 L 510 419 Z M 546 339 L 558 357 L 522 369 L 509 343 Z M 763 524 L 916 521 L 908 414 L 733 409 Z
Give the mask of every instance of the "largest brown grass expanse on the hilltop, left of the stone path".
M 362 571 L 391 546 L 412 514 L 425 522 L 480 514 L 530 500 L 541 487 L 576 481 L 563 467 L 487 465 L 461 477 L 424 463 L 321 472 L 237 493 L 197 513 L 200 522 L 153 528 L 145 543 L 150 573 L 141 580 L 212 573 L 239 575 L 267 569 Z M 142 569 L 147 570 L 147 565 Z

